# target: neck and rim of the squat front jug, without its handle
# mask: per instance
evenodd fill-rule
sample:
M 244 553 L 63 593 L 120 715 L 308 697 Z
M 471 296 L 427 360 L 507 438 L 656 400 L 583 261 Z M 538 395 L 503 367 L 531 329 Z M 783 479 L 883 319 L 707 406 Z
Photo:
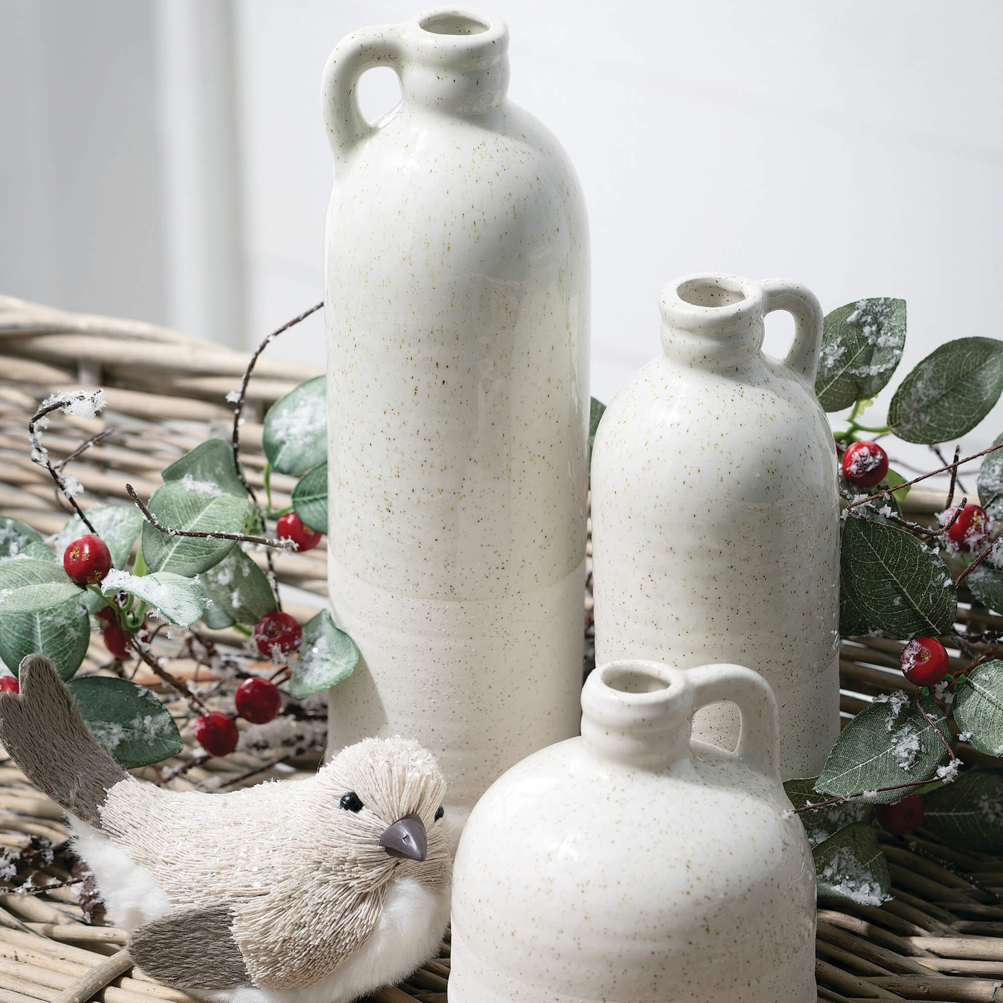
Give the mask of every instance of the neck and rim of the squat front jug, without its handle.
M 665 768 L 687 754 L 692 723 L 690 686 L 660 662 L 610 662 L 582 690 L 582 738 L 600 759 Z

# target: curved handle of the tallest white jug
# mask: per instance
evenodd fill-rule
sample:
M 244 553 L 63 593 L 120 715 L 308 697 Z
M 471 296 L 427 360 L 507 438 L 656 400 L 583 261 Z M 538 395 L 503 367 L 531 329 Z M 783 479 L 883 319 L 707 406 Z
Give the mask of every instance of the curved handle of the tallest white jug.
M 400 74 L 404 45 L 397 25 L 353 31 L 334 47 L 321 77 L 324 125 L 336 157 L 348 155 L 379 129 L 359 108 L 359 77 L 374 66 L 390 66 Z

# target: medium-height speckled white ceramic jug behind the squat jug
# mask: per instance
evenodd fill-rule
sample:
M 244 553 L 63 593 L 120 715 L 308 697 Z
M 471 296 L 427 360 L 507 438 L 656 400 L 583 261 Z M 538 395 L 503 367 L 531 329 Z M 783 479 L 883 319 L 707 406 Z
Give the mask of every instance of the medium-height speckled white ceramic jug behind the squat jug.
M 821 309 L 780 279 L 693 275 L 662 290 L 661 356 L 603 415 L 592 460 L 596 660 L 715 658 L 761 672 L 785 778 L 840 730 L 837 458 L 813 384 Z M 763 317 L 789 311 L 784 359 Z M 694 734 L 733 748 L 731 707 Z

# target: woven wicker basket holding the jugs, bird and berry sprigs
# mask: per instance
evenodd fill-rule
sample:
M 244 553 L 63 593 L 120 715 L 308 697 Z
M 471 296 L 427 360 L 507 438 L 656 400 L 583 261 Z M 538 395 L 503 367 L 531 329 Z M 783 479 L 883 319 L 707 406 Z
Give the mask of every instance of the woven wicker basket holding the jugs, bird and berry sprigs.
M 245 353 L 198 341 L 133 321 L 67 314 L 0 297 L 0 514 L 14 516 L 42 533 L 54 533 L 66 519 L 65 506 L 51 479 L 27 455 L 28 417 L 49 393 L 77 386 L 103 386 L 107 409 L 83 420 L 59 415 L 46 433 L 56 457 L 69 454 L 79 440 L 108 426 L 115 431 L 74 460 L 72 472 L 86 492 L 86 509 L 125 500 L 131 480 L 143 496 L 159 483 L 158 471 L 212 435 L 229 437 L 232 411 L 225 395 L 236 389 L 248 362 Z M 245 464 L 251 483 L 262 484 L 261 415 L 272 401 L 319 370 L 277 362 L 264 356 L 252 379 L 249 400 L 257 412 L 242 427 Z M 277 505 L 288 504 L 293 479 L 273 477 Z M 914 488 L 906 510 L 914 516 L 943 504 L 939 491 Z M 325 542 L 326 543 L 326 542 Z M 326 594 L 326 546 L 307 554 L 280 555 L 277 571 L 286 586 Z M 1003 617 L 973 604 L 963 589 L 959 623 L 1003 627 Z M 304 593 L 299 594 L 301 598 Z M 310 597 L 307 597 L 310 598 Z M 286 603 L 302 618 L 313 604 Z M 585 597 L 586 670 L 591 667 L 592 599 Z M 232 631 L 206 632 L 220 644 L 239 646 Z M 909 688 L 898 670 L 901 643 L 881 638 L 845 638 L 842 648 L 841 707 L 849 720 L 869 699 L 893 688 Z M 196 678 L 195 660 L 179 657 L 172 671 Z M 95 636 L 82 672 L 102 672 L 108 653 Z M 137 681 L 153 688 L 149 674 Z M 184 716 L 185 708 L 169 703 Z M 183 732 L 187 736 L 187 732 Z M 292 769 L 312 769 L 319 759 L 322 735 L 294 736 L 297 755 L 273 761 L 266 753 L 234 753 L 225 760 L 192 765 L 187 749 L 165 764 L 177 789 L 196 785 L 232 789 Z M 288 751 L 288 749 L 287 749 Z M 985 759 L 961 745 L 966 762 Z M 988 761 L 988 760 L 986 760 Z M 184 772 L 181 772 L 184 770 Z M 135 771 L 162 782 L 152 768 Z M 38 794 L 9 761 L 0 761 L 0 848 L 23 850 L 35 841 L 61 847 L 67 830 L 59 807 Z M 910 849 L 882 837 L 888 854 L 895 898 L 880 908 L 820 901 L 818 910 L 818 998 L 846 1003 L 862 1000 L 923 999 L 976 1003 L 1003 1001 L 1003 859 L 959 853 L 922 830 Z M 35 886 L 68 878 L 71 859 L 59 849 L 51 864 L 32 874 Z M 22 880 L 24 875 L 19 877 Z M 10 883 L 0 881 L 0 892 Z M 149 979 L 132 967 L 121 950 L 124 934 L 103 925 L 98 910 L 86 922 L 81 886 L 63 886 L 34 895 L 0 895 L 0 1003 L 46 1000 L 84 1003 L 149 1003 L 150 999 L 186 1003 L 190 999 Z M 440 956 L 396 988 L 373 1000 L 444 1003 L 449 975 L 448 937 Z

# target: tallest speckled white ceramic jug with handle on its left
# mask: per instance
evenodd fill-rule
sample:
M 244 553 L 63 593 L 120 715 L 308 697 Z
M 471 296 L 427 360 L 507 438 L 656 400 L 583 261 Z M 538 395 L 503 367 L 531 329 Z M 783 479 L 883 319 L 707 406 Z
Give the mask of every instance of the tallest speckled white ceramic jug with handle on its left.
M 578 731 L 589 240 L 578 179 L 506 98 L 509 32 L 432 10 L 341 41 L 324 73 L 330 598 L 362 660 L 331 748 L 405 734 L 461 819 Z M 400 104 L 362 117 L 359 76 Z

